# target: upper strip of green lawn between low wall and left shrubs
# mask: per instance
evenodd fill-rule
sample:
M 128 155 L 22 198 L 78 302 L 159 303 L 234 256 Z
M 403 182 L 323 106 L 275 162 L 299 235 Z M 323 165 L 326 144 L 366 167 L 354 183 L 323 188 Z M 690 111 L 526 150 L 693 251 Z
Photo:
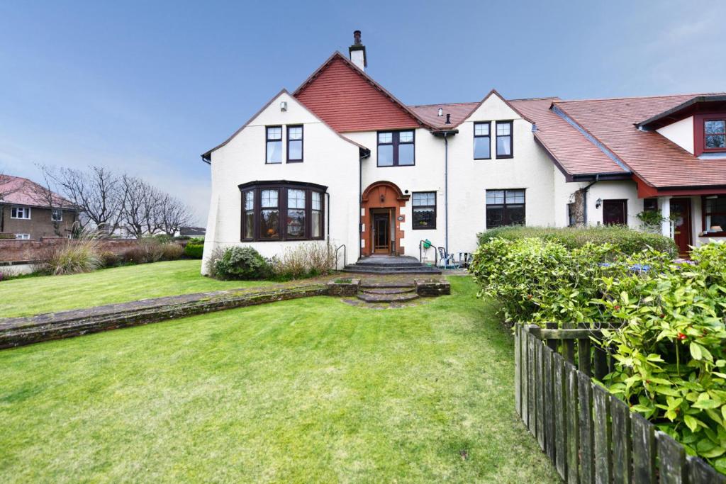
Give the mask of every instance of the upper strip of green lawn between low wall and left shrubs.
M 217 281 L 200 276 L 201 261 L 171 261 L 0 282 L 0 318 L 207 292 L 270 282 Z

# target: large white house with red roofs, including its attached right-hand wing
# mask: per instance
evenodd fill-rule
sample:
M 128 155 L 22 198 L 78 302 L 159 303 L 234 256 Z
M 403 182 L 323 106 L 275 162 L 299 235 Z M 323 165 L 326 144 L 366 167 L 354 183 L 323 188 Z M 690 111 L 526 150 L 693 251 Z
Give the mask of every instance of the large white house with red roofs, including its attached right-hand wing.
M 449 253 L 509 224 L 640 226 L 677 212 L 682 252 L 726 237 L 726 95 L 409 106 L 365 71 L 360 33 L 292 94 L 284 89 L 219 146 L 205 259 L 306 240 L 359 256 Z M 672 234 L 672 224 L 663 223 Z

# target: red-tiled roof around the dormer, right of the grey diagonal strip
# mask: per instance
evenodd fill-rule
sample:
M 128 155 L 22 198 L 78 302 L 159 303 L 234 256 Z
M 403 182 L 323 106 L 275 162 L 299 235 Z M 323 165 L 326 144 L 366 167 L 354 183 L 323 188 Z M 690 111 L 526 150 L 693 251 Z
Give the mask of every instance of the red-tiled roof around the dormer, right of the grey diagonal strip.
M 726 185 L 726 159 L 701 160 L 656 131 L 635 126 L 695 96 L 587 99 L 554 105 L 650 186 Z

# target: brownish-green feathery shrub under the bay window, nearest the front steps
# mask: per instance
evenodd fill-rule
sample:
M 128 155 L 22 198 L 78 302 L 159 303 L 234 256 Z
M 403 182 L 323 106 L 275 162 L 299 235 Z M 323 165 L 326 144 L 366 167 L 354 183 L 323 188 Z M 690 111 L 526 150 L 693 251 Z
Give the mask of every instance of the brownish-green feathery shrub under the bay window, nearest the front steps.
M 335 268 L 335 253 L 326 242 L 310 242 L 285 250 L 271 263 L 276 279 L 303 279 L 330 274 Z

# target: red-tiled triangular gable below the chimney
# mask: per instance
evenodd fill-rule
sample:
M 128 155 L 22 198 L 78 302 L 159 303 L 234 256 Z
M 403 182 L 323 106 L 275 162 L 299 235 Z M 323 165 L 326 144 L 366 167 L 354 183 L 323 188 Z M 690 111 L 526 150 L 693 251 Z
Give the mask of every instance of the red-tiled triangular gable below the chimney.
M 323 62 L 293 96 L 340 133 L 426 126 L 340 52 Z

